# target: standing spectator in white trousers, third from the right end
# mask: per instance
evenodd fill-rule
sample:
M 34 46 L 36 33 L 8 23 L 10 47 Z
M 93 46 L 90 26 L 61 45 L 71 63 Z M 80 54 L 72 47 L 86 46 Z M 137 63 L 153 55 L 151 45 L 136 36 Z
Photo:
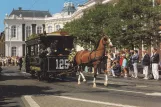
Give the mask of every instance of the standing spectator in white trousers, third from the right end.
M 134 50 L 134 55 L 132 56 L 133 62 L 133 69 L 134 69 L 134 78 L 138 78 L 138 62 L 139 62 L 139 55 L 138 51 Z

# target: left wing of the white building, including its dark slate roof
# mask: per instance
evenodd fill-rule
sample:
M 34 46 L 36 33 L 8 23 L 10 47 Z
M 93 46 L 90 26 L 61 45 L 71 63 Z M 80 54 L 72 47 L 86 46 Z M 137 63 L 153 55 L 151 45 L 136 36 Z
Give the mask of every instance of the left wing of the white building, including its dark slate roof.
M 43 33 L 45 18 L 52 17 L 49 11 L 33 11 L 13 9 L 6 15 L 5 24 L 5 56 L 24 56 L 25 40 L 31 34 Z

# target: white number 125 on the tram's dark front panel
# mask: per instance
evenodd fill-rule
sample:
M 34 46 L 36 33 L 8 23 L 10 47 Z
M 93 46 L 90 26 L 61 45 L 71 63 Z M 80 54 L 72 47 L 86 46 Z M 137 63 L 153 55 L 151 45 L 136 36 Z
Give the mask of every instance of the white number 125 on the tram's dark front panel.
M 68 59 L 56 59 L 56 69 L 69 69 Z

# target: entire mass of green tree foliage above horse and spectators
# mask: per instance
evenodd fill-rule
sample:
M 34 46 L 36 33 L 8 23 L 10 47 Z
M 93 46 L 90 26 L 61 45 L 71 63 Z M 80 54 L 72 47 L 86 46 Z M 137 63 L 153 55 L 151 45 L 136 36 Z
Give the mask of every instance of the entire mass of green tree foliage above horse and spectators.
M 99 4 L 84 11 L 83 17 L 65 25 L 64 30 L 75 36 L 76 43 L 88 48 L 96 46 L 106 33 L 117 48 L 157 45 L 160 36 L 156 22 L 160 6 L 149 0 L 119 0 L 116 4 Z M 157 40 L 157 42 L 156 42 Z M 153 44 L 151 44 L 153 43 Z

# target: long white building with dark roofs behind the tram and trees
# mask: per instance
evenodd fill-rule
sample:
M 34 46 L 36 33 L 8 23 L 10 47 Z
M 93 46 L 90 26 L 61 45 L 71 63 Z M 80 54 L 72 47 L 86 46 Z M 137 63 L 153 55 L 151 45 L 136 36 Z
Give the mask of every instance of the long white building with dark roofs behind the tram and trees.
M 80 18 L 83 11 L 97 3 L 107 3 L 111 0 L 88 0 L 75 9 L 71 2 L 64 3 L 61 13 L 51 15 L 49 11 L 13 9 L 4 19 L 5 25 L 5 56 L 24 56 L 25 40 L 31 34 L 51 33 L 63 28 L 64 24 Z M 77 47 L 77 50 L 81 50 Z

